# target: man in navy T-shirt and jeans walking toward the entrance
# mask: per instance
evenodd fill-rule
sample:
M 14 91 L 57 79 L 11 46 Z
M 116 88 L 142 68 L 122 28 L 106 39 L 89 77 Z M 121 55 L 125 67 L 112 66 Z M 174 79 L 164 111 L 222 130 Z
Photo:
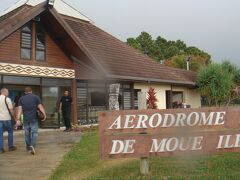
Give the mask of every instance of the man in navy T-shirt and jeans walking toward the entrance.
M 32 89 L 30 87 L 26 87 L 25 95 L 19 99 L 17 120 L 19 121 L 21 113 L 23 112 L 26 150 L 32 155 L 36 153 L 35 148 L 38 137 L 38 110 L 43 113 L 44 119 L 42 121 L 45 121 L 46 112 L 40 98 L 32 93 Z

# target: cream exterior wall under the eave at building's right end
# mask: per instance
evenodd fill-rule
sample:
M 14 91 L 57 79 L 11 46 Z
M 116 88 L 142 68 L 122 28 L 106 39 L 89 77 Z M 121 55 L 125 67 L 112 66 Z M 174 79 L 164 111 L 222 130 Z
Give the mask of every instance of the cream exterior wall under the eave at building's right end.
M 166 91 L 171 90 L 171 85 L 134 83 L 134 89 L 141 89 L 142 92 L 147 92 L 149 87 L 153 87 L 157 92 L 158 109 L 166 109 Z M 184 103 L 191 105 L 191 108 L 201 107 L 201 96 L 196 90 L 184 86 L 173 86 L 172 90 L 182 91 Z

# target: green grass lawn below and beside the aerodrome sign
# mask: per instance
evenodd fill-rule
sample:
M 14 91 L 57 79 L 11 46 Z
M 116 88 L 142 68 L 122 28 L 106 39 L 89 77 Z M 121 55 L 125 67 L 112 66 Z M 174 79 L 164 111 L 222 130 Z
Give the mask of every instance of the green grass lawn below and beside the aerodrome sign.
M 88 132 L 64 157 L 50 180 L 68 179 L 240 179 L 240 153 L 150 159 L 151 173 L 139 173 L 138 159 L 100 160 L 99 137 Z

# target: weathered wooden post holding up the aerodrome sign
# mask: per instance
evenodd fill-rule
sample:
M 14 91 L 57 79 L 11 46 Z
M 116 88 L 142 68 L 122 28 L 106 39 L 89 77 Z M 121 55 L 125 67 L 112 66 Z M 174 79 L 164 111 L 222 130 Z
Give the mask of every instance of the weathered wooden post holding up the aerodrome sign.
M 146 92 L 138 92 L 138 109 L 147 109 L 147 94 Z M 148 157 L 141 157 L 140 159 L 140 173 L 147 175 L 149 173 L 149 159 Z

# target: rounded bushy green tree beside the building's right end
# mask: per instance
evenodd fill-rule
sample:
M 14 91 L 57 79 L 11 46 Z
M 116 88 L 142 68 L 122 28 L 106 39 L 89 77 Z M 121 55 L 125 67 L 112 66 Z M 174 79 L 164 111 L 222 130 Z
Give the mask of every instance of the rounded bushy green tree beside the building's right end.
M 199 71 L 196 84 L 209 106 L 227 105 L 234 87 L 234 76 L 222 65 L 214 63 Z

